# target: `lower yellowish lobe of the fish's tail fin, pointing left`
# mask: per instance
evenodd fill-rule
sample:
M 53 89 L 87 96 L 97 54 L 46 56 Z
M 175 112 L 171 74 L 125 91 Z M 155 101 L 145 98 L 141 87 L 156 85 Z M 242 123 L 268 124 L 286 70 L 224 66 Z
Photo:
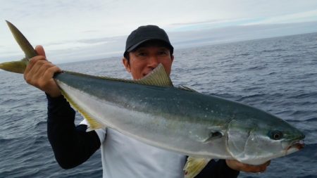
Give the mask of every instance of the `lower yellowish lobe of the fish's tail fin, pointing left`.
M 6 62 L 6 63 L 0 63 L 0 69 L 6 70 L 8 72 L 15 72 L 15 73 L 20 73 L 23 74 L 24 70 L 27 66 L 27 59 L 23 58 L 20 61 L 11 61 L 11 62 Z

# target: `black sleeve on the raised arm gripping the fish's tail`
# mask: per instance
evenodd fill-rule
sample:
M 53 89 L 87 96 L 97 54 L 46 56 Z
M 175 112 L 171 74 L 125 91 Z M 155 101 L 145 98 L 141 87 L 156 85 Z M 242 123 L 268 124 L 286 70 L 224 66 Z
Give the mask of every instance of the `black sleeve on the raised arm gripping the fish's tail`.
M 48 99 L 47 134 L 58 164 L 64 169 L 84 163 L 100 147 L 96 132 L 74 124 L 75 110 L 63 96 Z

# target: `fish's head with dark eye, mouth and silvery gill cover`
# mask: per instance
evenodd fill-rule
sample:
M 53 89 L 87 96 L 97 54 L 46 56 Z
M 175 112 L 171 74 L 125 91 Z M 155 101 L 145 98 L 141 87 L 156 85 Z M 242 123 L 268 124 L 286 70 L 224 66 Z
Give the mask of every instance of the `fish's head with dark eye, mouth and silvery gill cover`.
M 249 165 L 294 153 L 304 148 L 304 134 L 278 117 L 232 120 L 228 125 L 228 152 Z

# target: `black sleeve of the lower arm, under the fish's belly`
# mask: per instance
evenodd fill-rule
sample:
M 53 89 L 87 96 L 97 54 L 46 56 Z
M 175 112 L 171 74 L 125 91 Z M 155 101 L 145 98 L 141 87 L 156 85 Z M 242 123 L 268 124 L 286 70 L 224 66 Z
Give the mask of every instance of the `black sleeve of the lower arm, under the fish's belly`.
M 237 177 L 239 173 L 239 171 L 232 170 L 230 167 L 228 167 L 227 163 L 225 163 L 225 160 L 211 160 L 195 178 L 233 178 Z

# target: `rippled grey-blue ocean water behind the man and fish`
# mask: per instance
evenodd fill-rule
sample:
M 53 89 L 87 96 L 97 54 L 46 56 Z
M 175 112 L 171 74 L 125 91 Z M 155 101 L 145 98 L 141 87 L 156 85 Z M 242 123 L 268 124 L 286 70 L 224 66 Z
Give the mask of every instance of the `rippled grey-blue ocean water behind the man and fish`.
M 59 66 L 130 78 L 120 57 Z M 302 151 L 240 177 L 317 177 L 317 33 L 176 49 L 171 79 L 266 110 L 306 134 Z M 100 151 L 74 169 L 58 166 L 46 136 L 46 97 L 22 75 L 0 71 L 0 125 L 0 177 L 101 177 Z

